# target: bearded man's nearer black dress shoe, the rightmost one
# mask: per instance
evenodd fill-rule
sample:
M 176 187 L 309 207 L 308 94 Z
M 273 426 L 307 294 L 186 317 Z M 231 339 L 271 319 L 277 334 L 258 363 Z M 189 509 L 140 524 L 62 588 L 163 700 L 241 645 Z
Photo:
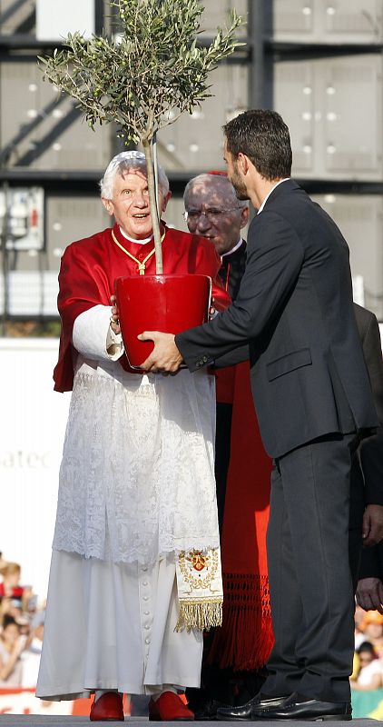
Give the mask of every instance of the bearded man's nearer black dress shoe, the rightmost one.
M 253 720 L 350 720 L 350 702 L 320 702 L 308 699 L 297 692 L 275 707 L 257 707 L 252 711 Z

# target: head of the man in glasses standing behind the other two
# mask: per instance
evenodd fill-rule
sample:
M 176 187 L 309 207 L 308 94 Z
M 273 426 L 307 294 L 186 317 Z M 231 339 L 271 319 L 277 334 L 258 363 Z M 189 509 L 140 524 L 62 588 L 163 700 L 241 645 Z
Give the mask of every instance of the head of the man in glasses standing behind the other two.
M 247 202 L 221 174 L 199 174 L 186 185 L 183 202 L 189 231 L 211 239 L 218 254 L 228 253 L 240 240 L 249 220 Z

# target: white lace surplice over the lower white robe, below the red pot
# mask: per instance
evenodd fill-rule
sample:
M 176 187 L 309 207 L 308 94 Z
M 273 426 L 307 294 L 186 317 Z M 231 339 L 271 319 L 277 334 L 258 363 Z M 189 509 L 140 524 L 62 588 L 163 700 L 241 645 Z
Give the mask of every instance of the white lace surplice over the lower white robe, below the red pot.
M 88 324 L 86 335 L 98 308 L 105 318 L 96 306 L 76 321 Z M 218 547 L 213 378 L 127 373 L 105 352 L 95 360 L 97 349 L 87 351 L 92 358 L 79 356 L 74 378 L 54 549 L 154 563 Z

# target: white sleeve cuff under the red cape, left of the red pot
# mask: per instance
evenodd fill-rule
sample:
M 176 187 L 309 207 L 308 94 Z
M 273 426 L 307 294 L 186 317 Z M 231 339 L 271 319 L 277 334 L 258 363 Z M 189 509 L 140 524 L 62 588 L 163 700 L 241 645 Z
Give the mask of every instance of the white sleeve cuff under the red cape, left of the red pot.
M 123 354 L 123 338 L 111 328 L 109 305 L 93 305 L 74 321 L 72 341 L 84 358 L 117 361 Z

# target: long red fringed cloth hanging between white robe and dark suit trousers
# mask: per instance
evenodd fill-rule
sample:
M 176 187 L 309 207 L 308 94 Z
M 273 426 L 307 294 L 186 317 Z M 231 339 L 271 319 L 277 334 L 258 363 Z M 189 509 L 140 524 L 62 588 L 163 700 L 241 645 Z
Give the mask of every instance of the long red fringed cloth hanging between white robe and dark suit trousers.
M 267 662 L 273 644 L 266 556 L 270 457 L 260 440 L 250 368 L 235 366 L 231 462 L 222 534 L 223 622 L 209 662 L 252 671 Z

